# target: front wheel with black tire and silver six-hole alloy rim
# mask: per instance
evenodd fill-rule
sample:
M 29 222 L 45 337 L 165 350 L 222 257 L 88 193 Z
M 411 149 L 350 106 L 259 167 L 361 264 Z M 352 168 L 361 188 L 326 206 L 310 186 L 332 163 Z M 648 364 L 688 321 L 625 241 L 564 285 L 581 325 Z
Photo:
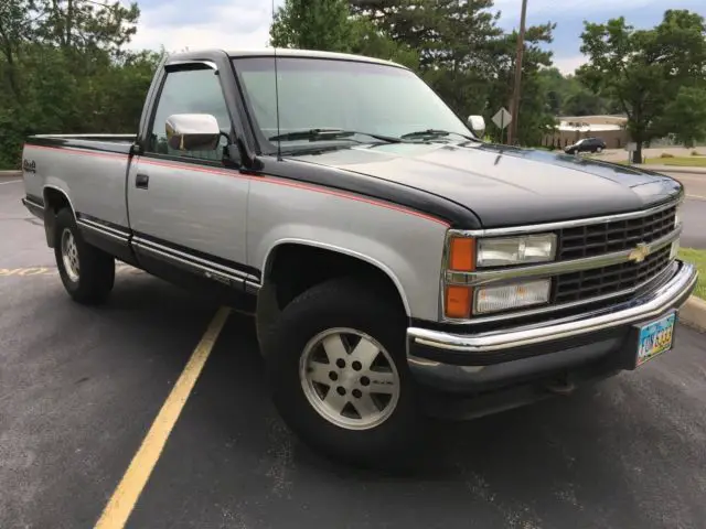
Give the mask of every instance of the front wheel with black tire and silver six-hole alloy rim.
M 308 445 L 374 466 L 398 466 L 419 446 L 405 323 L 389 296 L 351 279 L 315 285 L 285 307 L 263 347 L 275 406 Z

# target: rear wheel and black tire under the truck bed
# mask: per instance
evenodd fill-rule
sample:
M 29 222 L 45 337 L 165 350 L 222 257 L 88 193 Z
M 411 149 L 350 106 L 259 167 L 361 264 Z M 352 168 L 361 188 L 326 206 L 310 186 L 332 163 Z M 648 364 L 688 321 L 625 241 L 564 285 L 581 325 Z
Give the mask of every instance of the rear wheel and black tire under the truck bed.
M 54 241 L 58 274 L 68 295 L 83 304 L 104 302 L 115 284 L 113 256 L 83 239 L 68 208 L 56 215 Z

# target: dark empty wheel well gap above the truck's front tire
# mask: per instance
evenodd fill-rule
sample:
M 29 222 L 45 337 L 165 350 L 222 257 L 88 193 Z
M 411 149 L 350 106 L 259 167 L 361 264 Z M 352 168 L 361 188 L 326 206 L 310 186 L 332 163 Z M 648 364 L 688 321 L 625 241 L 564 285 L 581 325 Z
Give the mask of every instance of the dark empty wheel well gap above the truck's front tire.
M 268 259 L 264 278 L 276 291 L 277 307 L 282 310 L 296 296 L 314 284 L 334 278 L 354 277 L 375 285 L 378 292 L 393 296 L 406 311 L 399 288 L 381 268 L 363 259 L 314 246 L 284 244 Z

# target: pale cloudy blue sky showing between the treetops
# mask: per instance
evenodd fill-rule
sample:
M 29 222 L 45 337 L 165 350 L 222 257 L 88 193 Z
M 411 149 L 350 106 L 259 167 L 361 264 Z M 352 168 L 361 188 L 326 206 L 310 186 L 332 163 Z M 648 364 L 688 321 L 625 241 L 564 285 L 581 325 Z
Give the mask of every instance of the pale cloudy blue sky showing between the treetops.
M 268 44 L 272 0 L 137 1 L 141 15 L 130 44 L 133 48 L 252 50 Z M 282 3 L 275 0 L 276 8 Z M 521 6 L 521 0 L 495 0 L 503 29 L 520 26 Z M 605 22 L 624 15 L 635 28 L 650 28 L 660 22 L 667 7 L 691 9 L 706 17 L 706 0 L 527 0 L 527 24 L 557 24 L 548 47 L 555 65 L 568 74 L 585 62 L 580 53 L 584 21 Z

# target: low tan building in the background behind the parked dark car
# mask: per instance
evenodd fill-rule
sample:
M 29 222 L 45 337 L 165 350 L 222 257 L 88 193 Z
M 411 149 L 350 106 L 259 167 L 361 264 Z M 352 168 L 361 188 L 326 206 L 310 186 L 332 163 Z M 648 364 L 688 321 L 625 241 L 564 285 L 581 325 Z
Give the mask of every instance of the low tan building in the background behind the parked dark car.
M 581 138 L 593 137 L 602 139 L 607 149 L 622 149 L 630 141 L 624 116 L 561 116 L 557 122 L 554 132 L 544 137 L 544 147 L 564 149 Z

